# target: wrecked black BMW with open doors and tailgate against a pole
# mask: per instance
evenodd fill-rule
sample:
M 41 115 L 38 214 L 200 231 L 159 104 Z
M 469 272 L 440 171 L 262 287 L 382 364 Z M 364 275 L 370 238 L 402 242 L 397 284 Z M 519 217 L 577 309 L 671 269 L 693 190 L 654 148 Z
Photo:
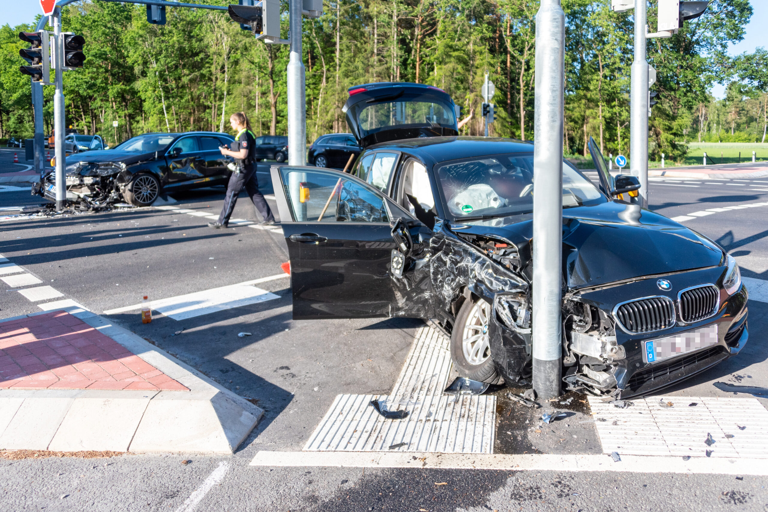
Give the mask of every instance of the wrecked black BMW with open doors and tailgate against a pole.
M 528 386 L 533 144 L 455 136 L 455 105 L 439 90 L 356 88 L 344 109 L 364 147 L 354 176 L 272 168 L 293 318 L 435 319 L 460 375 Z M 611 176 L 589 146 L 598 185 L 563 163 L 565 389 L 645 395 L 739 353 L 736 261 L 634 204 L 637 179 Z

